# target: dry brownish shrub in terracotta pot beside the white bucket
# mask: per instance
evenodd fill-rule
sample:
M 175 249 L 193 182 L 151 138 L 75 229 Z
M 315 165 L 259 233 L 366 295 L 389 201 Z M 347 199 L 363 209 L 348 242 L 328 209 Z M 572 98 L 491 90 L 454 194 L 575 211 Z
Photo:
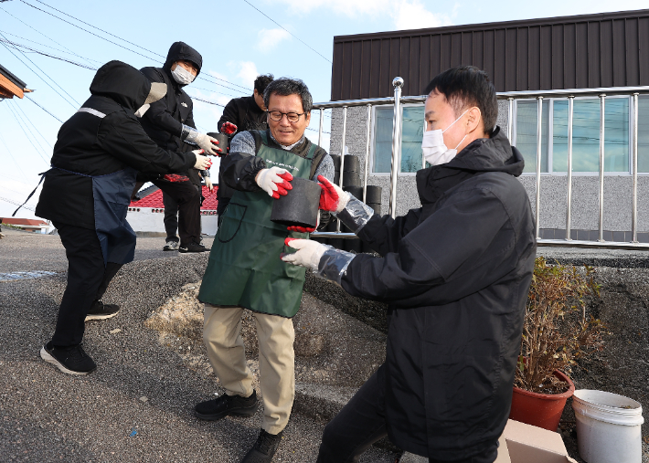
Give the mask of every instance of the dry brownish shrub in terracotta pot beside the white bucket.
M 586 302 L 599 297 L 594 268 L 548 265 L 537 258 L 527 298 L 509 417 L 556 431 L 575 385 L 568 374 L 585 355 L 601 350 L 604 326 Z

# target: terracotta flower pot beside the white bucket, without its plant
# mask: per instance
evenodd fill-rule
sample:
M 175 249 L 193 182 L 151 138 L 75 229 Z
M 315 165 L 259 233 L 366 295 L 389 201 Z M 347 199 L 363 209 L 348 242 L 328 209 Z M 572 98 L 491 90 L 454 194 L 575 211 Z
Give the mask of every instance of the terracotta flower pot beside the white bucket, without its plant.
M 537 394 L 514 387 L 509 417 L 527 425 L 557 431 L 563 407 L 566 406 L 568 398 L 575 393 L 575 384 L 559 370 L 556 370 L 554 375 L 569 384 L 568 391 L 562 394 Z

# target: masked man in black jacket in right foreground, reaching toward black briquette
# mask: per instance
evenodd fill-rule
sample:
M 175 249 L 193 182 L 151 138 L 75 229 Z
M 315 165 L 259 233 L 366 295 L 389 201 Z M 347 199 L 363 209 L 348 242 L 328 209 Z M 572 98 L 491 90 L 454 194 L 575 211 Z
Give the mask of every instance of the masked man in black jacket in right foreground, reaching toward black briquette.
M 523 157 L 495 127 L 484 71 L 449 69 L 425 91 L 420 208 L 378 216 L 320 179 L 321 208 L 380 257 L 305 239 L 282 257 L 388 303 L 386 361 L 324 428 L 318 463 L 357 461 L 386 435 L 431 462 L 492 463 L 509 415 L 536 257 Z

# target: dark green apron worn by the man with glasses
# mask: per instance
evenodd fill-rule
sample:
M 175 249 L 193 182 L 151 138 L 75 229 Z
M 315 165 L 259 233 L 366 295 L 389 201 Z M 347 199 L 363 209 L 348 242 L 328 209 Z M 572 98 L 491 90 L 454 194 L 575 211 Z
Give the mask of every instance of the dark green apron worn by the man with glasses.
M 286 169 L 293 177 L 309 178 L 316 146 L 306 158 L 268 146 L 267 132 L 261 132 L 257 156 L 267 167 Z M 244 307 L 261 313 L 293 317 L 300 309 L 305 269 L 283 262 L 286 237 L 308 238 L 307 233 L 289 232 L 285 225 L 271 222 L 272 202 L 265 191 L 240 192 L 232 196 L 198 293 L 208 304 Z

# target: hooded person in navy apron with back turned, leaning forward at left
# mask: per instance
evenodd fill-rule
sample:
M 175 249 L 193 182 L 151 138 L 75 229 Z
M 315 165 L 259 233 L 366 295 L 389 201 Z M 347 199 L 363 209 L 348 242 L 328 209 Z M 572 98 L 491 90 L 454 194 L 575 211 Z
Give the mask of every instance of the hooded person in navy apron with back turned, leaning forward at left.
M 103 65 L 90 99 L 59 130 L 36 215 L 59 230 L 68 258 L 68 286 L 57 327 L 41 357 L 68 374 L 96 368 L 83 351 L 84 321 L 114 316 L 101 296 L 123 264 L 133 260 L 135 234 L 126 221 L 137 172 L 165 174 L 205 168 L 206 156 L 171 153 L 144 132 L 135 113 L 162 98 L 165 84 L 120 61 Z

